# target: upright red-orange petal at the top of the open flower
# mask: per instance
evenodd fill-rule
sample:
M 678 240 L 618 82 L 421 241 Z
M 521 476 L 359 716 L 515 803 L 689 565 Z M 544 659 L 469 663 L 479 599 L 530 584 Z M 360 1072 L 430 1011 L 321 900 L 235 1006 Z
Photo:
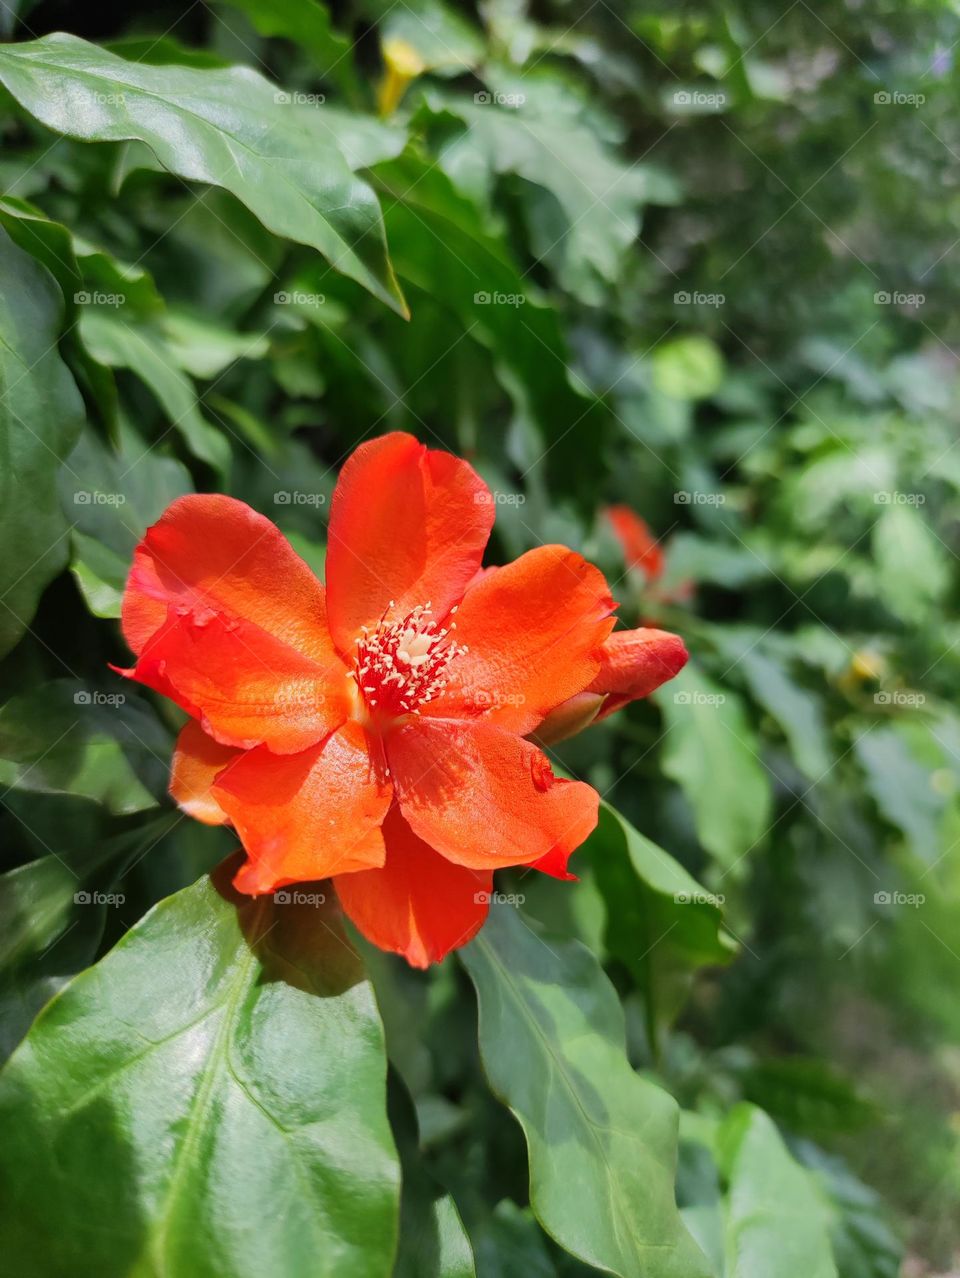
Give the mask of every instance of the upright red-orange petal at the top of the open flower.
M 493 500 L 476 470 L 396 432 L 362 443 L 334 491 L 327 542 L 330 629 L 353 656 L 363 625 L 395 603 L 431 603 L 438 620 L 479 567 Z

